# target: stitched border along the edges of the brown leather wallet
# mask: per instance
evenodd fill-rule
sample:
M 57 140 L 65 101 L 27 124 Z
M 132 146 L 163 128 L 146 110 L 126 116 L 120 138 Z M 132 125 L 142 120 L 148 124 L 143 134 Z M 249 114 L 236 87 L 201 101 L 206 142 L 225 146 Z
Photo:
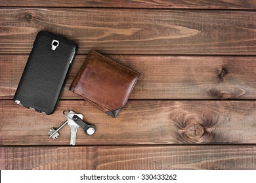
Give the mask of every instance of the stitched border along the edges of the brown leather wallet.
M 95 52 L 94 50 L 91 50 L 90 52 L 94 52 L 95 54 L 98 54 L 98 55 L 102 56 L 101 54 Z M 106 58 L 105 56 L 102 56 L 102 57 L 103 57 L 103 58 Z M 108 59 L 109 61 L 114 61 L 114 60 L 109 59 L 109 58 L 106 58 L 106 59 Z M 117 63 L 117 62 L 114 61 L 114 63 Z M 124 65 L 121 65 L 120 63 L 117 63 L 117 65 L 120 65 L 121 67 L 125 67 Z M 137 83 L 137 80 L 138 80 L 139 75 L 140 75 L 137 71 L 134 71 L 133 69 L 130 69 L 129 67 L 125 67 L 125 68 L 129 69 L 130 71 L 133 71 L 133 72 L 137 73 L 137 77 L 136 77 L 136 80 L 135 80 L 135 82 L 133 83 L 133 86 L 131 87 L 131 90 L 129 91 L 129 94 L 127 95 L 125 101 L 123 102 L 123 104 L 122 104 L 121 107 L 119 107 L 119 108 L 123 108 L 123 107 L 125 106 L 125 104 L 127 103 L 128 99 L 129 99 L 129 96 L 131 95 L 131 92 L 133 91 L 133 88 L 135 87 L 135 84 Z M 78 94 L 78 93 L 77 93 L 77 94 Z M 83 94 L 78 94 L 78 95 L 80 95 L 80 96 L 82 96 L 82 97 L 85 97 Z M 100 105 L 101 107 L 104 107 L 104 105 L 99 104 L 98 102 L 96 102 L 96 101 L 93 100 L 93 99 L 90 99 L 89 97 L 85 97 L 85 99 L 88 99 L 88 100 L 90 100 L 90 101 L 93 101 L 93 102 L 96 103 L 97 105 Z M 111 107 L 104 107 L 104 108 L 108 108 L 109 110 L 117 110 L 117 109 L 119 109 L 119 108 L 111 109 Z

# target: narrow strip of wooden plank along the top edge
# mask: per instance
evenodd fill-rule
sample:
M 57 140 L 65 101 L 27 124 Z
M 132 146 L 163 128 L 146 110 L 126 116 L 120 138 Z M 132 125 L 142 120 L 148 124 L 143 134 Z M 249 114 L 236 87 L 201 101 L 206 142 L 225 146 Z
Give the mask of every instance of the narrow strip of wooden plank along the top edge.
M 0 6 L 5 7 L 93 7 L 93 8 L 204 8 L 204 9 L 256 9 L 254 0 L 1 0 Z

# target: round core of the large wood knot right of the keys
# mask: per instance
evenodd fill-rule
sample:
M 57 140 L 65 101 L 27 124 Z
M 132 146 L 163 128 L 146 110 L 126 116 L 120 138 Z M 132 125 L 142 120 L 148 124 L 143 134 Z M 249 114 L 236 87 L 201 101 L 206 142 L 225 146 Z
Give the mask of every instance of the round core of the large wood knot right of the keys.
M 186 127 L 185 133 L 190 139 L 199 139 L 200 137 L 202 137 L 204 131 L 205 129 L 201 124 L 192 123 Z

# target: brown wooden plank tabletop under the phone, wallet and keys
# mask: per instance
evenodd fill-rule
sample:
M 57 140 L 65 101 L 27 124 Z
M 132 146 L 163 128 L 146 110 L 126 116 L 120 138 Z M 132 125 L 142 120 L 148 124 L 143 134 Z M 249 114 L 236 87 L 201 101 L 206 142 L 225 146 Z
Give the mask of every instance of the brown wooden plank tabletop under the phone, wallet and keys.
M 256 1 L 0 1 L 1 169 L 256 169 Z M 39 30 L 79 46 L 53 115 L 12 101 Z M 89 50 L 139 71 L 112 118 L 68 91 Z M 48 131 L 74 110 L 96 126 Z

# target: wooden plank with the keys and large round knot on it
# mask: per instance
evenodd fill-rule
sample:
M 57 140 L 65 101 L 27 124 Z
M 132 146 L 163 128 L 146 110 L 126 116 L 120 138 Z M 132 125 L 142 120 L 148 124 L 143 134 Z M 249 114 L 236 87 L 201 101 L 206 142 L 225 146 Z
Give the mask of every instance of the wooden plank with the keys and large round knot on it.
M 256 101 L 128 101 L 112 118 L 85 101 L 60 101 L 52 115 L 39 114 L 0 101 L 0 145 L 68 145 L 70 127 L 56 140 L 51 127 L 60 126 L 63 110 L 83 114 L 96 126 L 88 137 L 79 128 L 77 144 L 255 144 Z

